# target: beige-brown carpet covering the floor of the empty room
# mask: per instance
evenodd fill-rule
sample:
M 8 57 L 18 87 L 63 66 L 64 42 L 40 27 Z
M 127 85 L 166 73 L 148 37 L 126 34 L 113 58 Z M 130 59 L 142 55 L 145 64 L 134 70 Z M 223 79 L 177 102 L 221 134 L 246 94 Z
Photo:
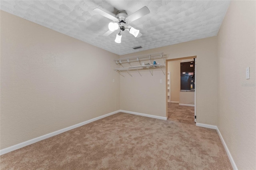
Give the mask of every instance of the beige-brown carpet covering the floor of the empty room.
M 0 156 L 1 170 L 229 170 L 216 130 L 118 113 Z

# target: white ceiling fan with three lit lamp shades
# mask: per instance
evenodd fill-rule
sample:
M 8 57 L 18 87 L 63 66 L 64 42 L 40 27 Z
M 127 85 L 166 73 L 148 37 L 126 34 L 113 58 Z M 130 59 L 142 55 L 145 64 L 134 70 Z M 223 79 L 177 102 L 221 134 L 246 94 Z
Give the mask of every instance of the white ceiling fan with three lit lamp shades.
M 140 8 L 138 11 L 134 12 L 130 16 L 127 15 L 125 10 L 119 10 L 116 13 L 116 16 L 112 16 L 111 14 L 108 14 L 107 12 L 99 8 L 94 8 L 93 11 L 114 21 L 114 23 L 110 22 L 108 24 L 109 30 L 106 33 L 104 33 L 103 36 L 109 36 L 114 31 L 120 29 L 119 33 L 116 34 L 116 40 L 115 40 L 116 43 L 121 43 L 122 35 L 120 33 L 121 31 L 124 31 L 124 30 L 128 30 L 130 34 L 132 34 L 134 37 L 138 38 L 142 36 L 142 34 L 140 33 L 140 30 L 136 30 L 135 28 L 129 26 L 128 24 L 150 13 L 150 10 L 146 6 Z

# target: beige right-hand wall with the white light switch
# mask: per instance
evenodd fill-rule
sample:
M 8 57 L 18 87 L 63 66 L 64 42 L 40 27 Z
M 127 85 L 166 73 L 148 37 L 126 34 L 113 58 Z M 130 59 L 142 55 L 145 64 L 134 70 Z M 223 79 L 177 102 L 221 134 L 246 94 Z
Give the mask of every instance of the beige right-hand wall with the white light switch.
M 256 169 L 255 6 L 231 1 L 217 37 L 217 126 L 240 170 Z

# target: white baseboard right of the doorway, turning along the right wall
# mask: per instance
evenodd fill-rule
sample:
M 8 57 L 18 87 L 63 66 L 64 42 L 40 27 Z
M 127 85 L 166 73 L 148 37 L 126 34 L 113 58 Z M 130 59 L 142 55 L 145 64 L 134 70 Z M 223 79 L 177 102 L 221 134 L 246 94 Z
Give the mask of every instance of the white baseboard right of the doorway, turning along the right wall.
M 224 148 L 225 148 L 225 150 L 226 150 L 226 152 L 227 152 L 227 154 L 228 154 L 228 158 L 229 158 L 229 160 L 230 160 L 230 163 L 232 164 L 233 169 L 234 169 L 234 170 L 238 170 L 237 167 L 236 167 L 236 164 L 235 164 L 235 162 L 234 162 L 234 159 L 232 158 L 232 155 L 230 154 L 230 152 L 229 152 L 229 150 L 228 150 L 228 146 L 226 145 L 226 142 L 224 141 L 224 139 L 223 139 L 223 137 L 222 137 L 222 135 L 221 135 L 220 130 L 218 129 L 218 127 L 217 127 L 217 126 L 214 126 L 214 125 L 203 124 L 203 123 L 196 123 L 196 126 L 198 126 L 198 127 L 206 127 L 206 128 L 213 128 L 213 129 L 216 129 L 216 130 L 217 130 L 218 135 L 220 136 L 220 140 L 221 140 L 221 142 L 222 142 L 222 144 L 223 144 L 223 146 L 224 146 Z

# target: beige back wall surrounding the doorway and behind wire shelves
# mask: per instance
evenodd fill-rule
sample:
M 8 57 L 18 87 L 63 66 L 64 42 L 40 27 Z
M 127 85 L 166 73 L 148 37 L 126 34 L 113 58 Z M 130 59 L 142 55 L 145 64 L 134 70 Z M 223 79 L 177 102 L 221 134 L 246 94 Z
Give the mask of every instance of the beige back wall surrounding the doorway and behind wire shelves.
M 197 122 L 216 125 L 216 37 L 122 55 L 164 52 L 168 59 L 197 56 Z M 166 85 L 162 71 L 153 76 L 120 77 L 120 109 L 166 117 Z M 159 83 L 160 79 L 163 83 Z

